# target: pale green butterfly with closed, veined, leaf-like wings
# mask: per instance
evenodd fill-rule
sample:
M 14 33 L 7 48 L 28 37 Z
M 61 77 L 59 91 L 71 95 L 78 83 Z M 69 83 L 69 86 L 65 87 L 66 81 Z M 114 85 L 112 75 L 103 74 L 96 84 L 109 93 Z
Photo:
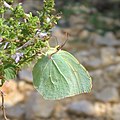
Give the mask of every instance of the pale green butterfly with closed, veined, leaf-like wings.
M 45 99 L 62 99 L 90 92 L 92 80 L 70 53 L 51 49 L 33 68 L 33 84 Z

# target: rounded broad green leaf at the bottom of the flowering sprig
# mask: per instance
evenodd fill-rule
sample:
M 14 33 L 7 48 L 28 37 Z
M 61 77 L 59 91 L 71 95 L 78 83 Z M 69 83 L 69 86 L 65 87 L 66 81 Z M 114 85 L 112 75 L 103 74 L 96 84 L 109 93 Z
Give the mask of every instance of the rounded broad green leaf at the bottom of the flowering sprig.
M 4 78 L 5 80 L 14 79 L 16 77 L 16 71 L 14 65 L 7 65 L 4 68 Z

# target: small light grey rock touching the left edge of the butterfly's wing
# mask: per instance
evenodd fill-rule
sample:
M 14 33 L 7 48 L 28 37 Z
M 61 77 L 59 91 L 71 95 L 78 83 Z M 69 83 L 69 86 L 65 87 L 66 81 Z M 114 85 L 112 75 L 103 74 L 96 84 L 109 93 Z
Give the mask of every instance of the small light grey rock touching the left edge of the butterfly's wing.
M 33 82 L 32 71 L 27 69 L 21 70 L 19 72 L 19 79 L 32 83 Z

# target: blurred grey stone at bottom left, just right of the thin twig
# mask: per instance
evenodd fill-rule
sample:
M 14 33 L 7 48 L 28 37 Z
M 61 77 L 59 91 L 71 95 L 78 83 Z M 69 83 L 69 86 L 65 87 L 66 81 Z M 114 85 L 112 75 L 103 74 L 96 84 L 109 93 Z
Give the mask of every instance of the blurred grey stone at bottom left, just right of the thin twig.
M 25 111 L 23 104 L 16 104 L 15 106 L 6 108 L 8 118 L 20 120 L 23 118 Z

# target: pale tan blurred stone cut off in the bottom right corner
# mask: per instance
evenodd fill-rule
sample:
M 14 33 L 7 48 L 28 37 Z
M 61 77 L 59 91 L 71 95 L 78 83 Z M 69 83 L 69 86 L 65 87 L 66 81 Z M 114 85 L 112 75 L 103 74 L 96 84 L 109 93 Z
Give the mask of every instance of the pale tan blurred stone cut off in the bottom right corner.
M 120 120 L 120 103 L 113 105 L 112 118 L 113 120 Z

